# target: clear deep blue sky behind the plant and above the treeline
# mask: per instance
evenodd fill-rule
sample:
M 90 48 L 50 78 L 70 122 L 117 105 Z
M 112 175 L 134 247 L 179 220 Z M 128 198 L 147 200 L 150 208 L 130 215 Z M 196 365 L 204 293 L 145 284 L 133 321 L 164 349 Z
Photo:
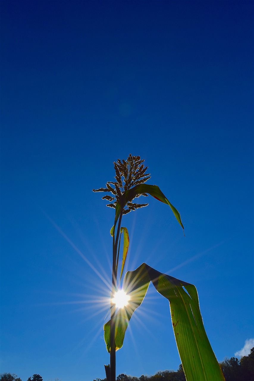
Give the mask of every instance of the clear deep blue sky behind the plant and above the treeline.
M 129 153 L 185 237 L 150 197 L 123 219 L 126 270 L 193 283 L 217 359 L 234 356 L 254 336 L 253 3 L 3 0 L 1 13 L 1 372 L 105 377 L 114 213 L 92 189 Z M 117 375 L 177 370 L 152 286 L 116 357 Z

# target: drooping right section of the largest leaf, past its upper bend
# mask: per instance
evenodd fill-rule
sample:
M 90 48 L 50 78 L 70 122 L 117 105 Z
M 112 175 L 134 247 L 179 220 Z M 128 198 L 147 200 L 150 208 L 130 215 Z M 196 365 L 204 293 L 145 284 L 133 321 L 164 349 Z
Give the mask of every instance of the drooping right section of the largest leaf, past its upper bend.
M 149 266 L 147 269 L 156 290 L 169 300 L 177 349 L 186 379 L 224 380 L 204 329 L 195 286 L 159 273 Z

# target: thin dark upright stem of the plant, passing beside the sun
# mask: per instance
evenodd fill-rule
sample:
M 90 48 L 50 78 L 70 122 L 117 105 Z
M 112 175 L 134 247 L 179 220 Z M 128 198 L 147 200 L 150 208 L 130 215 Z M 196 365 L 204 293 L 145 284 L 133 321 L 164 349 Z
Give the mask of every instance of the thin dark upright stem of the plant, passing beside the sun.
M 113 234 L 113 263 L 112 263 L 112 291 L 110 298 L 110 381 L 115 381 L 115 303 L 112 303 L 112 298 L 115 295 L 115 290 L 117 287 L 117 244 L 120 232 L 120 224 L 123 216 L 123 210 L 121 210 L 118 226 L 117 226 L 117 236 Z

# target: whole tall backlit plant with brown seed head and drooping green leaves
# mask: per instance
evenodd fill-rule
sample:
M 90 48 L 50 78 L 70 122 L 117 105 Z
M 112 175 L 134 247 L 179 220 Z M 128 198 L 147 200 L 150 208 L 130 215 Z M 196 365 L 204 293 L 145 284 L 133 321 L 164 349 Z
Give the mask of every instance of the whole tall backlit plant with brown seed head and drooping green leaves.
M 115 209 L 115 221 L 110 230 L 113 237 L 112 290 L 110 293 L 110 320 L 104 325 L 104 339 L 110 353 L 110 365 L 105 365 L 107 381 L 115 381 L 115 352 L 123 346 L 125 331 L 133 312 L 145 297 L 150 282 L 156 290 L 169 300 L 171 322 L 177 349 L 182 361 L 187 381 L 220 381 L 224 376 L 209 343 L 200 313 L 198 294 L 194 285 L 163 274 L 143 263 L 134 271 L 126 272 L 123 280 L 126 302 L 116 311 L 119 285 L 125 267 L 129 248 L 129 234 L 121 227 L 123 215 L 146 207 L 147 203 L 135 203 L 139 196 L 151 195 L 169 205 L 178 223 L 184 229 L 181 216 L 156 185 L 145 184 L 150 173 L 139 156 L 131 154 L 127 160 L 114 162 L 115 179 L 105 188 L 93 189 L 94 192 L 106 192 L 102 199 L 109 201 L 108 207 Z M 118 276 L 118 263 L 121 236 L 123 235 L 123 255 Z M 119 279 L 118 279 L 119 278 Z M 127 303 L 128 301 L 128 303 Z

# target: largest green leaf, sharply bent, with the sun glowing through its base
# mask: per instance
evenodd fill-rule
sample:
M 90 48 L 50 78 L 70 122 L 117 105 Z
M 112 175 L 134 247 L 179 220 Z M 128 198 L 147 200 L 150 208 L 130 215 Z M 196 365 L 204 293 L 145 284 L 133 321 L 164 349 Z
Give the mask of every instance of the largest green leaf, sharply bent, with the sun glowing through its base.
M 129 305 L 120 309 L 114 317 L 117 349 L 123 345 L 128 322 L 142 303 L 150 281 L 169 300 L 174 335 L 186 379 L 224 381 L 204 329 L 195 286 L 163 274 L 145 263 L 125 275 L 123 287 L 131 299 Z M 110 321 L 104 325 L 104 331 L 107 350 L 110 351 Z

